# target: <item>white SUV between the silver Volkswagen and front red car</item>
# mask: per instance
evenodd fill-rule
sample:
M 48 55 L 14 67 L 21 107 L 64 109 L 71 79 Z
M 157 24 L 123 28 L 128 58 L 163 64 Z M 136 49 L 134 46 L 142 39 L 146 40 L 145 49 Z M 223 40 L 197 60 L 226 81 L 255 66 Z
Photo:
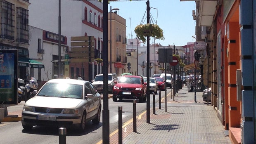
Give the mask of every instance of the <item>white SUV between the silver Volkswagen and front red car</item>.
M 114 83 L 115 80 L 118 80 L 116 73 L 109 73 L 108 75 L 109 94 L 112 94 L 112 90 L 115 85 Z M 103 74 L 96 75 L 94 80 L 92 80 L 92 85 L 94 85 L 97 92 L 101 94 L 103 92 Z

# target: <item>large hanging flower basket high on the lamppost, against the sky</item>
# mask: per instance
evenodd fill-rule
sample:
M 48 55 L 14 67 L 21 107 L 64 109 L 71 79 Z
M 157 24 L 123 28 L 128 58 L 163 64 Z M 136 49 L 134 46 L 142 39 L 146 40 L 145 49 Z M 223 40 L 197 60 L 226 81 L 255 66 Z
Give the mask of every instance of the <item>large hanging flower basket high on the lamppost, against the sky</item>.
M 145 37 L 154 37 L 156 39 L 164 40 L 163 30 L 157 24 L 140 24 L 134 29 L 137 38 L 146 42 Z

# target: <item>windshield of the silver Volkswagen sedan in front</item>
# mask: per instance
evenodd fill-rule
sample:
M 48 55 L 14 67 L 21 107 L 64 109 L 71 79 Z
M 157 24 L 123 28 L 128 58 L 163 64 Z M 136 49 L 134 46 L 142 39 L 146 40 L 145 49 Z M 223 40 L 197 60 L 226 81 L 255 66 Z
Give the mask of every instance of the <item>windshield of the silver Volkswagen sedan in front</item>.
M 82 99 L 82 94 L 82 85 L 68 83 L 47 83 L 42 87 L 37 96 Z

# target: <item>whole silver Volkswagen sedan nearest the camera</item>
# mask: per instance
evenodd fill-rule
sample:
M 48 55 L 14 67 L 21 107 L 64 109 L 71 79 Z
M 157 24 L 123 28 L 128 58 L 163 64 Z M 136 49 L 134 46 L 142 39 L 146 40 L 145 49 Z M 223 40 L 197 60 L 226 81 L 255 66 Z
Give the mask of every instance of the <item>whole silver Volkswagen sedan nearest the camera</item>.
M 22 110 L 22 127 L 65 126 L 85 130 L 85 123 L 100 123 L 101 96 L 85 80 L 52 79 L 29 99 Z

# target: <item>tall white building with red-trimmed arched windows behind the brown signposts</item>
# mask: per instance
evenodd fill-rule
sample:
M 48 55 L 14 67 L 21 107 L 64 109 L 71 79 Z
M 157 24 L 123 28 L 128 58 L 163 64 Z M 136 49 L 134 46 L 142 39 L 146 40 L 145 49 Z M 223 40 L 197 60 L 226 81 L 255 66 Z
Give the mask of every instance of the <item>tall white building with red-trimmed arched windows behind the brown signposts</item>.
M 57 0 L 31 0 L 30 3 L 28 7 L 30 14 L 29 25 L 58 34 L 59 2 Z M 60 28 L 61 35 L 65 35 L 67 38 L 67 46 L 70 47 L 72 36 L 94 36 L 95 58 L 101 58 L 103 48 L 102 6 L 102 2 L 98 1 L 61 0 Z M 45 49 L 46 53 L 47 50 Z M 63 55 L 61 59 L 64 60 Z M 81 75 L 86 80 L 93 79 L 100 71 L 100 67 L 94 65 L 93 62 L 80 64 L 88 66 L 84 68 L 84 73 L 81 73 L 81 70 L 79 72 L 76 71 L 80 65 L 73 65 L 77 67 L 73 67 L 74 71 L 72 71 L 71 76 L 77 77 L 77 75 Z

